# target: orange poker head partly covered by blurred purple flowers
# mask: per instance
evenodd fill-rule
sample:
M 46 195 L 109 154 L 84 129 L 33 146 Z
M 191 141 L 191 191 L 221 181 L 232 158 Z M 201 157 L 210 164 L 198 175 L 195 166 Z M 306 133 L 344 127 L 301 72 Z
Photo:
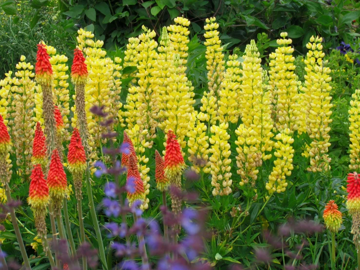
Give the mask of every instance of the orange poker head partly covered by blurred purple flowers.
M 127 185 L 130 189 L 128 191 L 128 200 L 129 204 L 132 205 L 135 201 L 144 202 L 145 200 L 145 190 L 144 183 L 141 180 L 140 172 L 137 167 L 136 156 L 130 155 L 128 160 L 128 176 L 127 176 Z

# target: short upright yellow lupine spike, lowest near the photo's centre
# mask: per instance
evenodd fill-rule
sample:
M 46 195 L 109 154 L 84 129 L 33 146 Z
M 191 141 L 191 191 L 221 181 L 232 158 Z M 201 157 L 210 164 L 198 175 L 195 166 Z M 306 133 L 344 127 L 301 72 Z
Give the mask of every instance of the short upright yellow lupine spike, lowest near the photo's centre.
M 231 151 L 230 144 L 227 142 L 230 135 L 227 134 L 227 128 L 227 123 L 210 127 L 210 132 L 213 135 L 209 138 L 211 144 L 209 161 L 211 162 L 211 186 L 214 187 L 212 190 L 214 196 L 228 195 L 232 192 L 231 159 L 229 158 Z

